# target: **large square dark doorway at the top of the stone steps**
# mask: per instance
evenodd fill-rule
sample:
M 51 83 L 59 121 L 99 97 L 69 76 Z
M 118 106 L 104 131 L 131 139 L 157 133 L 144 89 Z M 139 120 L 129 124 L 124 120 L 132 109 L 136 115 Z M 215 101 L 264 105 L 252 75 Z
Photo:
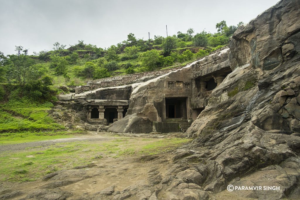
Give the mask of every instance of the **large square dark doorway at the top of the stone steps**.
M 175 97 L 165 98 L 166 101 L 166 118 L 187 119 L 187 98 Z

